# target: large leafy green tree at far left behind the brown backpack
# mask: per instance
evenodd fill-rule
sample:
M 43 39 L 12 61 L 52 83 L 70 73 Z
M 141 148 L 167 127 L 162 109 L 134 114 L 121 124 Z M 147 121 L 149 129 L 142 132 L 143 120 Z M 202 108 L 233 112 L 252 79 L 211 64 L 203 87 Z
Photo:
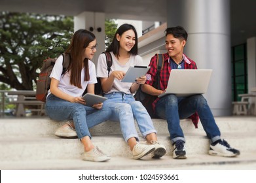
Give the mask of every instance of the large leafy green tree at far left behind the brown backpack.
M 73 35 L 73 17 L 0 12 L 0 82 L 33 90 L 38 69 L 64 52 Z

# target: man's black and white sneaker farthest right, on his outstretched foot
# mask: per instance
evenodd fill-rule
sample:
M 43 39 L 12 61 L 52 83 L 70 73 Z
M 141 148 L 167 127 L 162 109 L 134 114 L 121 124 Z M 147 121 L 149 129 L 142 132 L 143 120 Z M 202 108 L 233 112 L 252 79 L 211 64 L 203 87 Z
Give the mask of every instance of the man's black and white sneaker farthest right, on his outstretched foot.
M 238 156 L 240 151 L 231 148 L 229 143 L 223 139 L 215 144 L 210 144 L 209 154 L 213 156 L 234 157 Z

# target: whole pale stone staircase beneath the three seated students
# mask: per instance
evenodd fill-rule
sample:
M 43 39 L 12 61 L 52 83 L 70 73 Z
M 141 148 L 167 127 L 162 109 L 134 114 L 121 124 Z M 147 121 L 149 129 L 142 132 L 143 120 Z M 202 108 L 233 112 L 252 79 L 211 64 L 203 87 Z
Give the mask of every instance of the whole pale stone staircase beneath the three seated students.
M 83 146 L 78 139 L 60 139 L 53 135 L 65 122 L 55 122 L 47 117 L 0 118 L 0 169 L 256 169 L 256 117 L 229 116 L 215 120 L 221 129 L 221 137 L 240 150 L 241 155 L 237 158 L 208 155 L 209 141 L 202 125 L 195 129 L 190 120 L 181 120 L 187 141 L 187 159 L 172 158 L 166 121 L 153 119 L 158 141 L 167 148 L 166 156 L 132 159 L 119 123 L 104 122 L 90 132 L 92 142 L 111 159 L 90 162 L 81 160 Z

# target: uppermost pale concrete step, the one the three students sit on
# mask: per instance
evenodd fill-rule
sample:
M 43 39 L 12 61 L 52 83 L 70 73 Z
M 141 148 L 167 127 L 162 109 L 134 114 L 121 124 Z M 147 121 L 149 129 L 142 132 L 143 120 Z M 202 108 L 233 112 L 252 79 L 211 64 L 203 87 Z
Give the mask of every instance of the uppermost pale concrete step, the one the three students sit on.
M 216 117 L 217 125 L 222 133 L 232 131 L 253 132 L 256 131 L 256 117 L 252 116 L 232 116 Z M 48 136 L 54 134 L 56 129 L 65 122 L 56 122 L 45 118 L 0 118 L 0 137 L 31 137 Z M 153 124 L 158 133 L 168 133 L 166 120 L 153 119 Z M 137 124 L 136 124 L 137 127 Z M 191 120 L 181 120 L 181 127 L 184 133 L 204 133 L 202 124 L 198 124 L 198 129 L 194 127 Z M 139 129 L 137 127 L 139 133 Z M 92 135 L 121 134 L 119 122 L 103 122 L 90 129 Z

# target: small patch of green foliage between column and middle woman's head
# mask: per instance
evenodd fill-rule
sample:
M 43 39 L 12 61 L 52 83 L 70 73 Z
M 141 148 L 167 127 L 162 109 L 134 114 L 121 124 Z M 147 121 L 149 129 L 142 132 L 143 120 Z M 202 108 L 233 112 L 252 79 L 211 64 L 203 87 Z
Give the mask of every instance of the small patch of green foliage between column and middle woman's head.
M 106 19 L 105 20 L 105 48 L 111 44 L 117 31 L 117 24 L 115 20 Z

